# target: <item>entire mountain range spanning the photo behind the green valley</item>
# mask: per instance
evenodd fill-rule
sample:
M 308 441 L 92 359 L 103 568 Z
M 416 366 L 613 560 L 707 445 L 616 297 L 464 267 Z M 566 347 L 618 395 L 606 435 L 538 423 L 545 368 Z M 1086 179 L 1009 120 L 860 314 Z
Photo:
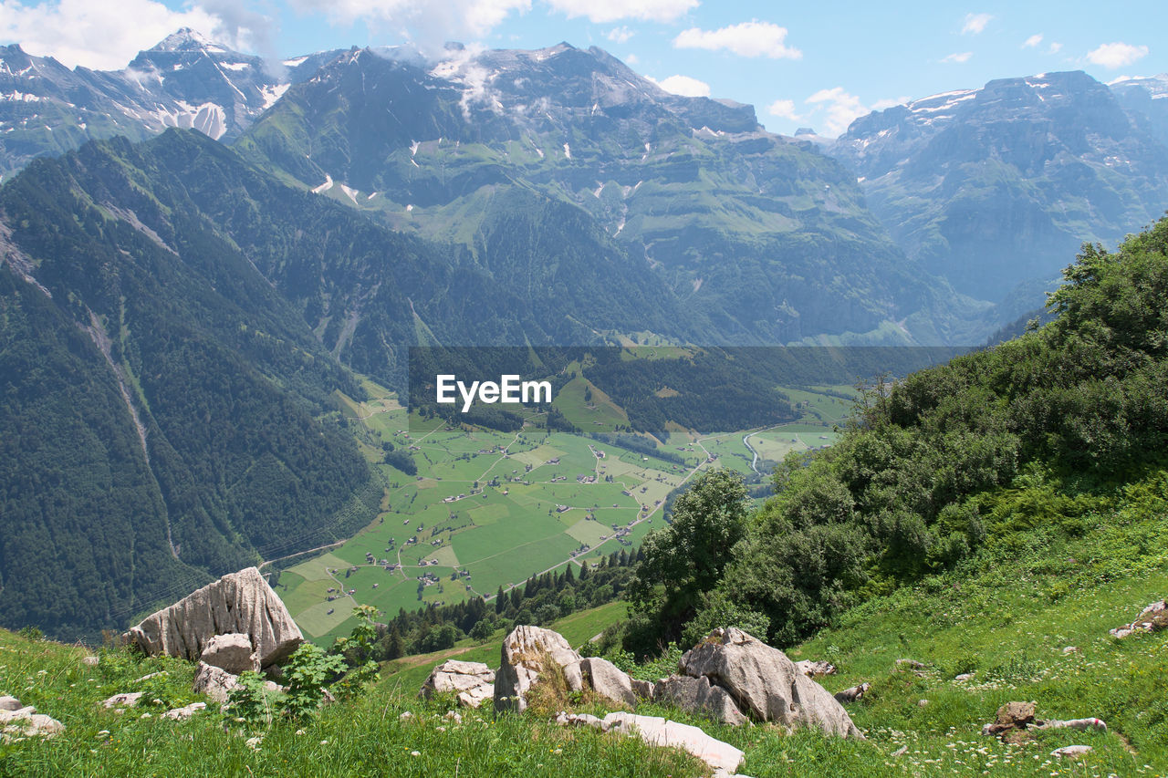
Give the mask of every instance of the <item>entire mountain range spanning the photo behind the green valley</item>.
M 1168 203 L 1164 78 L 834 143 L 565 43 L 272 67 L 180 30 L 0 82 L 0 623 L 62 637 L 368 523 L 335 393 L 404 390 L 411 345 L 975 343 Z

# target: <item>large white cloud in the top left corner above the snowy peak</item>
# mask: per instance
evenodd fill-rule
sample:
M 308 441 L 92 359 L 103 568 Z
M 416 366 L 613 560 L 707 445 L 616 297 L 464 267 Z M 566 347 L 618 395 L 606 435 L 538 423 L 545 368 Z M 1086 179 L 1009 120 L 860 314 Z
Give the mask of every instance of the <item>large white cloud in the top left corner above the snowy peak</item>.
M 180 27 L 192 27 L 230 46 L 250 46 L 249 30 L 236 27 L 232 36 L 222 19 L 200 7 L 179 12 L 154 0 L 58 0 L 41 5 L 0 0 L 0 40 L 15 41 L 29 54 L 51 55 L 69 67 L 124 68 L 138 51 Z

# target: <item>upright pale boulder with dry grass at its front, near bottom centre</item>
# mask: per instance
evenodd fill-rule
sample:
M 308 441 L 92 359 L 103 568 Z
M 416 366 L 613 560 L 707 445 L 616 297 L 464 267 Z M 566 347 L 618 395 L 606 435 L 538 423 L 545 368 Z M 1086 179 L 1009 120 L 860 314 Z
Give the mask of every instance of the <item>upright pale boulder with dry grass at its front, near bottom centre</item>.
M 551 630 L 517 626 L 503 640 L 499 669 L 495 672 L 495 710 L 522 713 L 527 693 L 541 674 L 562 672 L 568 689 L 584 688 L 580 655 Z

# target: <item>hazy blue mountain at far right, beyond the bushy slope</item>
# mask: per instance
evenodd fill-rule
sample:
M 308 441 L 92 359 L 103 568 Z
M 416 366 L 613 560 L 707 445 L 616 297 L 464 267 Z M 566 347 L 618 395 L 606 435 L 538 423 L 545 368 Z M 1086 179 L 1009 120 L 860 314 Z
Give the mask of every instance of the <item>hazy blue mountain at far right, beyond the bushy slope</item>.
M 870 113 L 828 151 L 910 257 L 997 301 L 1163 213 L 1168 147 L 1146 125 L 1086 74 L 1056 72 Z

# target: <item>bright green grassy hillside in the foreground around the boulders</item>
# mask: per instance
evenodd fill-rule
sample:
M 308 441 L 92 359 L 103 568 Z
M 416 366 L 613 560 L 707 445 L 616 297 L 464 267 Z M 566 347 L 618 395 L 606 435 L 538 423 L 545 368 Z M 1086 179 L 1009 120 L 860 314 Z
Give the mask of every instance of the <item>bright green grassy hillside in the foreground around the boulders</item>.
M 1115 640 L 1107 630 L 1132 620 L 1168 591 L 1168 471 L 1126 487 L 1106 513 L 1086 516 L 1080 536 L 1038 532 L 1026 547 L 986 554 L 959 570 L 847 612 L 836 627 L 801 644 L 795 659 L 828 659 L 840 674 L 829 690 L 868 681 L 850 706 L 867 741 L 770 725 L 718 727 L 655 706 L 640 713 L 702 725 L 746 752 L 742 772 L 766 776 L 1166 776 L 1168 774 L 1168 633 Z M 606 606 L 559 624 L 573 644 L 623 609 Z M 218 713 L 187 722 L 159 717 L 164 706 L 194 700 L 193 668 L 165 659 L 103 652 L 85 667 L 86 650 L 0 633 L 0 694 L 51 715 L 67 730 L 50 741 L 0 745 L 5 776 L 700 776 L 681 753 L 592 730 L 562 730 L 535 714 L 494 720 L 415 694 L 426 668 L 449 654 L 498 662 L 500 635 L 474 648 L 410 658 L 399 673 L 350 703 L 325 709 L 308 724 L 277 723 L 249 745 Z M 1068 646 L 1078 651 L 1065 652 Z M 915 659 L 923 675 L 897 671 Z M 167 671 L 161 680 L 135 682 Z M 653 669 L 647 668 L 648 674 Z M 973 672 L 968 681 L 954 681 Z M 97 703 L 145 689 L 162 704 L 123 715 Z M 920 701 L 927 703 L 922 704 Z M 1106 734 L 1052 730 L 1007 745 L 980 735 L 997 707 L 1035 701 L 1038 716 L 1098 716 Z M 600 713 L 597 708 L 582 709 Z M 401 721 L 403 711 L 413 717 Z M 148 716 L 146 714 L 150 714 Z M 1050 752 L 1070 744 L 1094 751 L 1076 759 Z M 904 748 L 904 751 L 897 755 Z

